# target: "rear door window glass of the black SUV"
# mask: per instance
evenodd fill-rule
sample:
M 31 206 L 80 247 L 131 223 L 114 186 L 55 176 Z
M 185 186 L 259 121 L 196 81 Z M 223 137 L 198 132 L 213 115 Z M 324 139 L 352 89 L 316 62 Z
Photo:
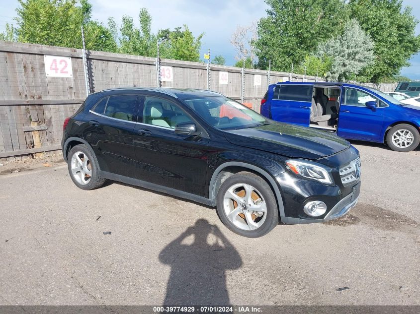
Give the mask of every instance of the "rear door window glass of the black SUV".
M 134 105 L 137 95 L 110 96 L 106 104 L 104 115 L 107 117 L 133 121 Z

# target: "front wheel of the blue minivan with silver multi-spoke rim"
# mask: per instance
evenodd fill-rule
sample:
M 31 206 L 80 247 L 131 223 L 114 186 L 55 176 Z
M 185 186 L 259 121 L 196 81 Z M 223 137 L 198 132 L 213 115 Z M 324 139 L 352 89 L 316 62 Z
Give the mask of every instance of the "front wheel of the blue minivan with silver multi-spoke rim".
M 407 124 L 394 126 L 388 131 L 387 144 L 398 152 L 409 152 L 419 146 L 420 134 L 417 128 Z

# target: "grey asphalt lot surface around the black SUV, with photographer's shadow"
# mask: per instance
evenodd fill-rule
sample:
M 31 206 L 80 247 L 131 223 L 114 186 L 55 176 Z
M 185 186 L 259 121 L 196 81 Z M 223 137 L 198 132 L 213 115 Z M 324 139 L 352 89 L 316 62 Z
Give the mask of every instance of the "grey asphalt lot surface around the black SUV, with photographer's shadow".
M 420 305 L 420 151 L 353 144 L 358 205 L 258 239 L 162 193 L 81 190 L 65 164 L 0 175 L 0 305 Z

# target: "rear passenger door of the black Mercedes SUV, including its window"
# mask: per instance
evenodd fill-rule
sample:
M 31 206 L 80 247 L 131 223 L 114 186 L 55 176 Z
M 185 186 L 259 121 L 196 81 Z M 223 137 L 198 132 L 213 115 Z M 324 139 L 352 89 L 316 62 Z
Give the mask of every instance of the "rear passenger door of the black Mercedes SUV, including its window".
M 136 169 L 133 129 L 137 98 L 133 94 L 106 96 L 89 112 L 89 127 L 84 137 L 102 171 L 130 176 Z

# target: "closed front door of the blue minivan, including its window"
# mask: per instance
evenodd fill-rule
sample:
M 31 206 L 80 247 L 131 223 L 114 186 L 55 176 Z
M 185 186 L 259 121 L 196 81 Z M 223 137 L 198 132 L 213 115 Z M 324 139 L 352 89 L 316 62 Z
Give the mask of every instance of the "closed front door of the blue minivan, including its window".
M 358 88 L 345 87 L 342 94 L 337 135 L 347 139 L 381 141 L 384 109 L 388 105 Z M 376 108 L 366 107 L 368 101 L 376 101 Z

